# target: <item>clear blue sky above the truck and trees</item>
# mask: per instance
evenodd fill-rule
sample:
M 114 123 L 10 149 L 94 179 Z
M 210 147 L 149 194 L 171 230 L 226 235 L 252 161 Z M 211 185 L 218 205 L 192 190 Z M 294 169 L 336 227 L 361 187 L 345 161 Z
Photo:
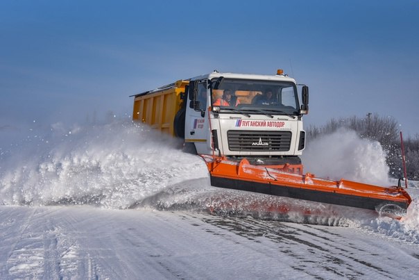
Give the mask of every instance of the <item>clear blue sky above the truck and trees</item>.
M 419 133 L 419 1 L 0 2 L 0 126 L 131 114 L 178 79 L 284 71 L 306 125 L 367 113 Z

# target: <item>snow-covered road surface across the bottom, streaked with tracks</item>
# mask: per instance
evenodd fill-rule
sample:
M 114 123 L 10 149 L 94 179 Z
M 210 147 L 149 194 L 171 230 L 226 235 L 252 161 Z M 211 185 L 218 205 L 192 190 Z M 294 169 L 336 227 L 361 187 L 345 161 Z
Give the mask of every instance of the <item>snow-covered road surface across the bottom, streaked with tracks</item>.
M 0 206 L 1 279 L 414 279 L 419 245 L 150 208 Z

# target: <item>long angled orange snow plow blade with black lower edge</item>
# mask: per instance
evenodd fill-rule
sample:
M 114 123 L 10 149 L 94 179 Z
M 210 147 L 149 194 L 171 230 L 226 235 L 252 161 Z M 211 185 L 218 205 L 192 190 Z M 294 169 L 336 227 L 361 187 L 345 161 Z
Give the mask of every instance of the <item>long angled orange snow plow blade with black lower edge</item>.
M 387 209 L 405 213 L 411 197 L 401 187 L 373 186 L 341 179 L 332 181 L 316 178 L 313 174 L 292 174 L 272 168 L 239 163 L 224 158 L 202 156 L 210 171 L 211 185 L 259 192 L 266 195 L 291 197 L 326 204 L 352 206 L 373 211 Z M 386 212 L 386 210 L 383 210 Z

